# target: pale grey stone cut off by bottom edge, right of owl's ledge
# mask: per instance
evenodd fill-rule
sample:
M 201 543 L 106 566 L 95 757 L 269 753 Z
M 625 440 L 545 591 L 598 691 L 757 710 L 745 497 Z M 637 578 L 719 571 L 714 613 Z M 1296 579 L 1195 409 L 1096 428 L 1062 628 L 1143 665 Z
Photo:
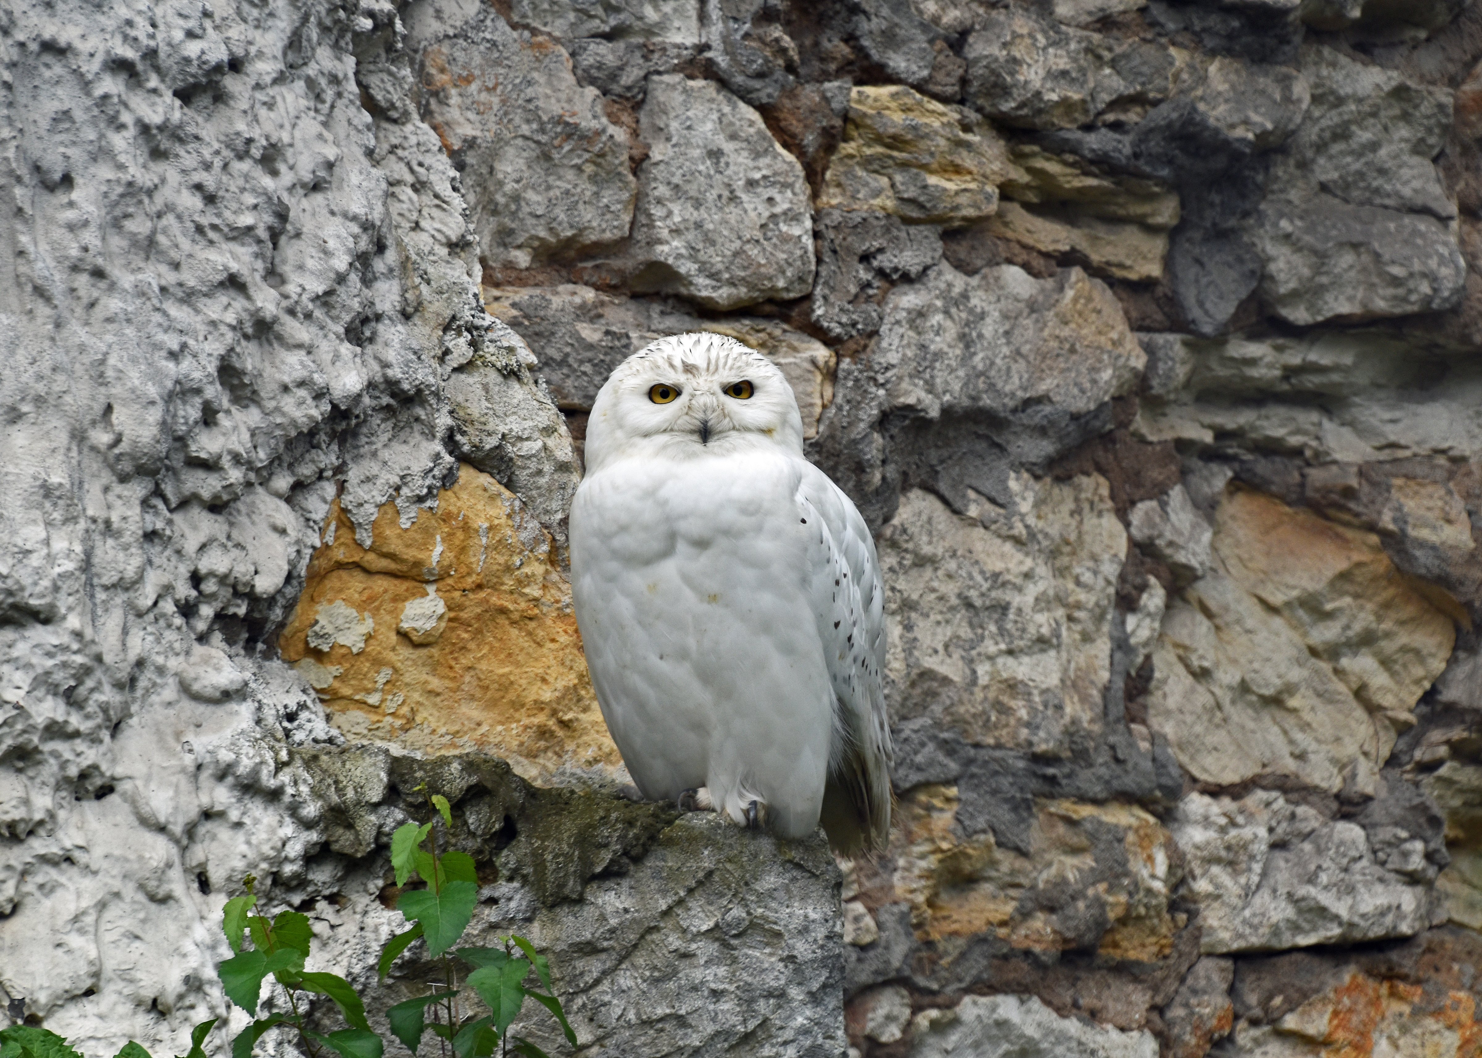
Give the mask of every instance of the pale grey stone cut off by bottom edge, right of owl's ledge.
M 911 1024 L 911 1058 L 1156 1058 L 1149 1031 L 1123 1033 L 1061 1018 L 1033 996 L 966 996 L 956 1008 L 919 1014 Z

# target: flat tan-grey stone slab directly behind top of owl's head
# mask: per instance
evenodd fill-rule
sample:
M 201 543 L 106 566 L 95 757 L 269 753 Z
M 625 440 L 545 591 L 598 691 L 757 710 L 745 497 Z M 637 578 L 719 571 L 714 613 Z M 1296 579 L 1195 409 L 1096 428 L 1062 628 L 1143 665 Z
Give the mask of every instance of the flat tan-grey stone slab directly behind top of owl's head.
M 599 293 L 574 283 L 485 287 L 485 298 L 489 313 L 520 327 L 536 344 L 541 376 L 556 403 L 571 410 L 588 410 L 612 369 L 633 353 L 665 335 L 692 330 L 729 335 L 775 363 L 797 397 L 805 437 L 818 433 L 818 416 L 833 400 L 833 351 L 775 320 L 748 316 L 702 320 L 680 308 Z M 459 373 L 455 372 L 449 382 L 453 400 L 461 393 L 456 388 Z M 486 385 L 499 382 L 495 375 L 485 378 Z M 458 409 L 455 403 L 455 413 Z M 519 424 L 511 415 L 489 416 L 489 421 L 505 430 Z M 539 465 L 554 476 L 562 465 L 559 453 L 553 458 L 553 453 L 542 452 L 541 456 Z

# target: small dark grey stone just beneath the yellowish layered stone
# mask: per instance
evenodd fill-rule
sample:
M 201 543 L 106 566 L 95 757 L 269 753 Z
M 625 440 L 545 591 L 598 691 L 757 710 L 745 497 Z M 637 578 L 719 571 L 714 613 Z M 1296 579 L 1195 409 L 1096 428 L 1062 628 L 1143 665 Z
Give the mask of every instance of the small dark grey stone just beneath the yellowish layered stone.
M 891 285 L 916 279 L 941 261 L 934 228 L 906 227 L 891 215 L 821 210 L 812 319 L 830 338 L 879 330 L 880 299 Z

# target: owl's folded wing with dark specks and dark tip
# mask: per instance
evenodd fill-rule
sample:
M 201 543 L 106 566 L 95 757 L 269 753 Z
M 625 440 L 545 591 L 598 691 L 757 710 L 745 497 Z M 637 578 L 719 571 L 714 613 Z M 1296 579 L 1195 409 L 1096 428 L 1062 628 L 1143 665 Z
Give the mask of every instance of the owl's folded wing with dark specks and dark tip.
M 845 854 L 883 848 L 891 830 L 891 728 L 885 713 L 885 588 L 874 539 L 854 501 L 817 467 L 797 488 L 817 526 L 814 615 L 834 693 L 823 825 Z

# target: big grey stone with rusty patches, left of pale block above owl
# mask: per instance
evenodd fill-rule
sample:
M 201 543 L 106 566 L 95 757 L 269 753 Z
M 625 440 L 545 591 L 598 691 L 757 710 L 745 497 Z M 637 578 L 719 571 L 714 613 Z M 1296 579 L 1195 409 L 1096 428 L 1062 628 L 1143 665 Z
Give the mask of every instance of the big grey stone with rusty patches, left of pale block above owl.
M 560 47 L 464 0 L 421 0 L 406 25 L 424 119 L 458 160 L 488 262 L 526 268 L 628 234 L 628 139 Z

